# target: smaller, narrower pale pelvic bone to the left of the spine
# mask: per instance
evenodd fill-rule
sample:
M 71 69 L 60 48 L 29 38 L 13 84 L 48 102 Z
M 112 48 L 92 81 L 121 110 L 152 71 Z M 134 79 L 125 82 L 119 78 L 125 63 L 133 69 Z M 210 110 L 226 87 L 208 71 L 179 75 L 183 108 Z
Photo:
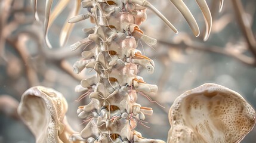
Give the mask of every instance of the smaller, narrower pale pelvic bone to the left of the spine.
M 36 143 L 69 142 L 69 136 L 76 132 L 67 123 L 66 111 L 63 95 L 44 86 L 27 89 L 18 106 L 18 114 L 35 136 Z M 73 143 L 78 142 L 82 141 Z

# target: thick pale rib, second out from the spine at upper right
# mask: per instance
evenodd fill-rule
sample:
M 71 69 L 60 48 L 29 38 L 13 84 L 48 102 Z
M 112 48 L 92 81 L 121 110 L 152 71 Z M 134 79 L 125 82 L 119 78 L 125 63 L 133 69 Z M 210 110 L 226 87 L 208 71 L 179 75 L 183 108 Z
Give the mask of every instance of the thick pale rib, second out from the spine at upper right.
M 170 0 L 172 4 L 180 11 L 180 13 L 184 16 L 190 28 L 192 29 L 194 35 L 197 37 L 200 34 L 198 24 L 196 23 L 195 18 L 190 12 L 189 8 L 187 8 L 186 4 L 182 0 Z

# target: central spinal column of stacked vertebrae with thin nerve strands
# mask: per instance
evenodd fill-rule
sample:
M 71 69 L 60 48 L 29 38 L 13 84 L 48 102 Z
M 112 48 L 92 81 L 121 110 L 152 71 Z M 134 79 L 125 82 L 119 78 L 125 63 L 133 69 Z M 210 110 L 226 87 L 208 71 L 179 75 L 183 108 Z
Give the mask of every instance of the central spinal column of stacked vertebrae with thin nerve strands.
M 78 15 L 69 20 L 75 23 L 91 18 L 95 27 L 84 29 L 89 36 L 76 42 L 72 51 L 95 42 L 90 51 L 82 52 L 84 60 L 77 61 L 73 70 L 79 73 L 84 68 L 97 73 L 81 81 L 76 91 L 90 92 L 91 102 L 78 108 L 78 116 L 90 122 L 74 135 L 72 140 L 87 142 L 164 142 L 146 139 L 134 130 L 137 122 L 153 113 L 152 108 L 141 107 L 137 93 L 151 95 L 157 92 L 156 85 L 150 85 L 137 76 L 138 67 L 153 73 L 154 63 L 141 55 L 137 39 L 155 45 L 156 39 L 144 35 L 139 25 L 146 20 L 146 8 L 122 1 L 82 1 L 88 14 Z M 82 138 L 81 138 L 82 137 Z

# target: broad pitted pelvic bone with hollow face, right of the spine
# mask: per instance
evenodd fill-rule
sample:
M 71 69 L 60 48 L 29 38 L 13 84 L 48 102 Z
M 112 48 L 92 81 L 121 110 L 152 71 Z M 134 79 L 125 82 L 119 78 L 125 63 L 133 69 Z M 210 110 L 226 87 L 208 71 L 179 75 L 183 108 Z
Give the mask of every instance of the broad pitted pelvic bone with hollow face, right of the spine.
M 206 83 L 174 101 L 169 122 L 168 143 L 233 143 L 254 127 L 255 111 L 237 92 Z

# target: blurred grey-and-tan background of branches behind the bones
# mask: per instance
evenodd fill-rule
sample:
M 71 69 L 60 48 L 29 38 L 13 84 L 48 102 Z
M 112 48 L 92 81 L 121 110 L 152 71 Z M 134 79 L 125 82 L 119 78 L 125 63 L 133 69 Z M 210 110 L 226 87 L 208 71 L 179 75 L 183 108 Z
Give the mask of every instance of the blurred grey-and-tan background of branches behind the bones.
M 59 1 L 54 1 L 52 9 Z M 150 2 L 171 21 L 179 31 L 178 35 L 147 10 L 147 20 L 140 28 L 146 35 L 158 39 L 156 46 L 150 47 L 139 42 L 138 49 L 155 61 L 155 72 L 147 74 L 143 69 L 140 76 L 144 81 L 158 85 L 158 95 L 152 97 L 165 108 L 145 97 L 138 97 L 138 103 L 152 107 L 152 116 L 146 116 L 146 127 L 139 125 L 137 130 L 144 137 L 166 141 L 170 128 L 168 110 L 175 98 L 183 92 L 203 83 L 217 83 L 239 92 L 254 109 L 256 108 L 256 17 L 254 0 L 224 1 L 218 13 L 219 1 L 207 1 L 211 9 L 213 23 L 208 41 L 203 41 L 205 23 L 201 10 L 195 1 L 184 1 L 198 21 L 201 35 L 193 36 L 186 20 L 171 4 L 165 1 Z M 238 2 L 238 3 L 236 3 Z M 75 100 L 81 95 L 74 88 L 81 79 L 93 73 L 85 70 L 74 74 L 72 65 L 81 59 L 81 51 L 72 52 L 69 45 L 86 38 L 83 28 L 94 25 L 90 20 L 73 24 L 73 30 L 66 30 L 67 19 L 74 13 L 75 1 L 53 20 L 48 39 L 53 48 L 48 48 L 44 38 L 45 2 L 38 1 L 38 21 L 35 20 L 33 4 L 29 0 L 0 1 L 0 142 L 35 142 L 29 129 L 17 115 L 17 105 L 21 95 L 31 86 L 43 85 L 60 91 L 67 102 L 67 120 L 75 130 L 81 130 L 76 109 L 87 104 Z M 81 9 L 80 14 L 87 13 Z M 70 26 L 70 25 L 69 25 Z M 69 27 L 67 26 L 67 27 Z M 66 44 L 60 44 L 61 36 L 69 33 Z M 90 45 L 90 49 L 93 46 Z M 256 142 L 256 128 L 243 139 L 243 143 Z

